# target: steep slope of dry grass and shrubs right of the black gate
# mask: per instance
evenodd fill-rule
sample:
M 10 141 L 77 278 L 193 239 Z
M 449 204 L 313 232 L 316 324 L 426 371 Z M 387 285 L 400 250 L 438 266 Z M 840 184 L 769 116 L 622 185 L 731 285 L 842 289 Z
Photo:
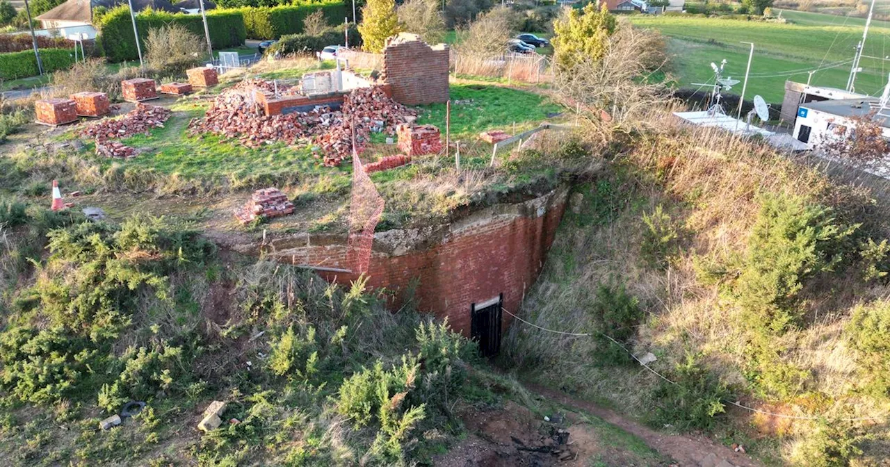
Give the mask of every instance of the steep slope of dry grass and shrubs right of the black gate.
M 523 305 L 592 335 L 518 324 L 506 365 L 771 463 L 886 459 L 885 202 L 721 133 L 621 146 L 577 188 Z

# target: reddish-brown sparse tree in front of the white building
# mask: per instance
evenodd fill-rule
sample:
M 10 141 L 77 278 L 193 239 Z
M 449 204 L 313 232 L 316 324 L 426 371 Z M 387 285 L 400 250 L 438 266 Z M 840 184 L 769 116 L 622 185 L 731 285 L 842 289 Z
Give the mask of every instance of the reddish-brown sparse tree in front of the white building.
M 829 138 L 818 143 L 821 149 L 834 157 L 854 163 L 868 163 L 883 158 L 890 153 L 890 143 L 884 139 L 882 126 L 878 123 L 877 111 L 849 117 L 849 125 L 834 125 Z

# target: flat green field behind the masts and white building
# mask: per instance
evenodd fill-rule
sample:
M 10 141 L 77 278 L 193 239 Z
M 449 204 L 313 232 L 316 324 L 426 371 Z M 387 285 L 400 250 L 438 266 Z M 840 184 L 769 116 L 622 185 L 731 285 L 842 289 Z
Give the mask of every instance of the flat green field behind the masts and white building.
M 781 102 L 784 82 L 806 82 L 808 70 L 815 70 L 812 83 L 843 88 L 850 72 L 849 60 L 862 37 L 861 18 L 783 11 L 785 24 L 720 18 L 633 16 L 641 28 L 655 28 L 670 37 L 668 51 L 673 55 L 673 73 L 684 87 L 704 83 L 713 76 L 709 63 L 726 59 L 726 75 L 741 77 L 748 62 L 748 45 L 755 44 L 748 95 L 764 96 Z M 890 55 L 890 23 L 874 21 L 865 46 L 865 55 Z M 861 93 L 880 93 L 890 73 L 890 61 L 862 59 L 862 73 L 856 81 Z M 734 91 L 739 91 L 740 88 Z

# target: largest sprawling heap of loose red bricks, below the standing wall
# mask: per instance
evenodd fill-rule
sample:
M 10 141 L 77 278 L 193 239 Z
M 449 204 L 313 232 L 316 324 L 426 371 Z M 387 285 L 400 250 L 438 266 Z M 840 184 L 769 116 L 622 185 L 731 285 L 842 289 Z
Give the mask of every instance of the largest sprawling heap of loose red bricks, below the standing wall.
M 205 117 L 193 119 L 192 134 L 214 133 L 238 140 L 252 148 L 275 141 L 295 144 L 314 141 L 320 146 L 325 165 L 340 165 L 352 155 L 352 121 L 357 151 L 367 145 L 370 133 L 394 134 L 394 127 L 416 118 L 413 110 L 390 99 L 379 88 L 353 90 L 344 98 L 342 110 L 318 107 L 310 112 L 292 112 L 268 117 L 257 93 L 270 93 L 273 84 L 247 80 L 216 97 Z M 287 89 L 279 88 L 279 93 Z

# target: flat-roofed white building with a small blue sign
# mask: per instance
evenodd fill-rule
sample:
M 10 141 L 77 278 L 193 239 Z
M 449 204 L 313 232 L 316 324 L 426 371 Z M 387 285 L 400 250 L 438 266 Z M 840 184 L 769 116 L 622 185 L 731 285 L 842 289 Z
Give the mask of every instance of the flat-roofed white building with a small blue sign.
M 854 125 L 850 117 L 876 112 L 873 118 L 882 126 L 884 137 L 890 139 L 890 117 L 877 112 L 880 109 L 878 102 L 877 98 L 866 98 L 800 104 L 792 134 L 797 141 L 805 143 L 807 149 L 816 149 L 836 137 L 838 125 Z

